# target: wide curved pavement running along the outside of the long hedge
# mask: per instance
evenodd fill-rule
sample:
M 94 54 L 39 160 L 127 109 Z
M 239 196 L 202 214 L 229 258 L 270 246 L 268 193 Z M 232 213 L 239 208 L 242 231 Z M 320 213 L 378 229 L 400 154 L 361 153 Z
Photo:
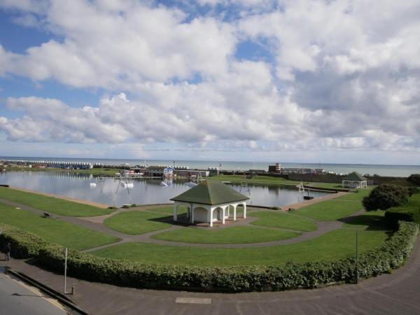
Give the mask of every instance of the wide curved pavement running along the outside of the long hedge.
M 0 261 L 0 265 L 2 263 L 6 262 Z M 61 275 L 22 260 L 10 260 L 7 264 L 56 290 L 62 289 Z M 69 287 L 76 286 L 76 295 L 71 299 L 91 314 L 411 315 L 420 314 L 420 244 L 417 240 L 405 266 L 392 274 L 366 279 L 358 285 L 342 284 L 313 290 L 223 294 L 120 288 L 71 277 L 67 283 Z M 210 304 L 176 303 L 178 297 L 186 298 L 187 302 Z

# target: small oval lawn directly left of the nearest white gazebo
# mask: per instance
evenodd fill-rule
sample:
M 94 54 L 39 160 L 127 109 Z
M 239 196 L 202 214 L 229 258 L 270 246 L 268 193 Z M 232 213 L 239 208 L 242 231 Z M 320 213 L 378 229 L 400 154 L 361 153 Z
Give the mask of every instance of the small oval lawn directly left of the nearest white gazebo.
M 130 211 L 111 216 L 104 221 L 104 224 L 121 233 L 139 235 L 170 228 L 172 226 L 170 223 L 162 222 L 165 218 L 168 216 L 146 211 Z

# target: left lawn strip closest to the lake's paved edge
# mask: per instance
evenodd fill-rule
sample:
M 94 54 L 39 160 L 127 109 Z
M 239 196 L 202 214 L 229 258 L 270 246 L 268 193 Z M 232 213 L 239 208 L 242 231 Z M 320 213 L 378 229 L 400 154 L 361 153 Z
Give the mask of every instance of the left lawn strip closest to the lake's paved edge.
M 55 197 L 48 197 L 34 193 L 27 193 L 12 188 L 0 187 L 0 198 L 11 202 L 18 202 L 26 206 L 39 209 L 59 216 L 102 216 L 111 214 L 111 209 L 101 209 L 87 204 L 79 204 Z

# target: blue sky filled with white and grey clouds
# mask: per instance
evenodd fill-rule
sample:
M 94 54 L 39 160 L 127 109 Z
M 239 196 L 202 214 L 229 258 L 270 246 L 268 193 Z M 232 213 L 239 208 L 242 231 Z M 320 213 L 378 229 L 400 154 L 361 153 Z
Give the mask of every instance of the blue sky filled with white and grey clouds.
M 420 165 L 418 0 L 0 0 L 0 155 Z

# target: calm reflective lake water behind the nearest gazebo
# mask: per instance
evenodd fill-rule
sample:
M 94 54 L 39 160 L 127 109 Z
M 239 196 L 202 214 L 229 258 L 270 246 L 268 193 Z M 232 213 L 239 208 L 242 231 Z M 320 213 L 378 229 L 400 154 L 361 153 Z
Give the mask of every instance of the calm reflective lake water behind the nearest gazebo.
M 90 183 L 96 183 L 96 188 L 90 188 Z M 186 181 L 167 182 L 168 186 L 161 185 L 160 179 L 134 179 L 130 181 L 134 188 L 127 190 L 120 186 L 120 181 L 113 178 L 105 178 L 99 181 L 86 174 L 74 174 L 65 172 L 5 172 L 0 173 L 0 184 L 8 184 L 11 187 L 25 188 L 29 190 L 52 193 L 81 200 L 100 202 L 120 207 L 123 204 L 166 204 L 184 191 L 190 189 Z M 302 201 L 302 195 L 297 188 L 290 186 L 248 186 L 232 185 L 232 188 L 248 195 L 248 205 L 267 207 L 282 207 Z M 118 188 L 118 189 L 117 189 Z M 305 193 L 307 194 L 307 193 Z M 310 192 L 309 195 L 321 197 L 328 193 Z

